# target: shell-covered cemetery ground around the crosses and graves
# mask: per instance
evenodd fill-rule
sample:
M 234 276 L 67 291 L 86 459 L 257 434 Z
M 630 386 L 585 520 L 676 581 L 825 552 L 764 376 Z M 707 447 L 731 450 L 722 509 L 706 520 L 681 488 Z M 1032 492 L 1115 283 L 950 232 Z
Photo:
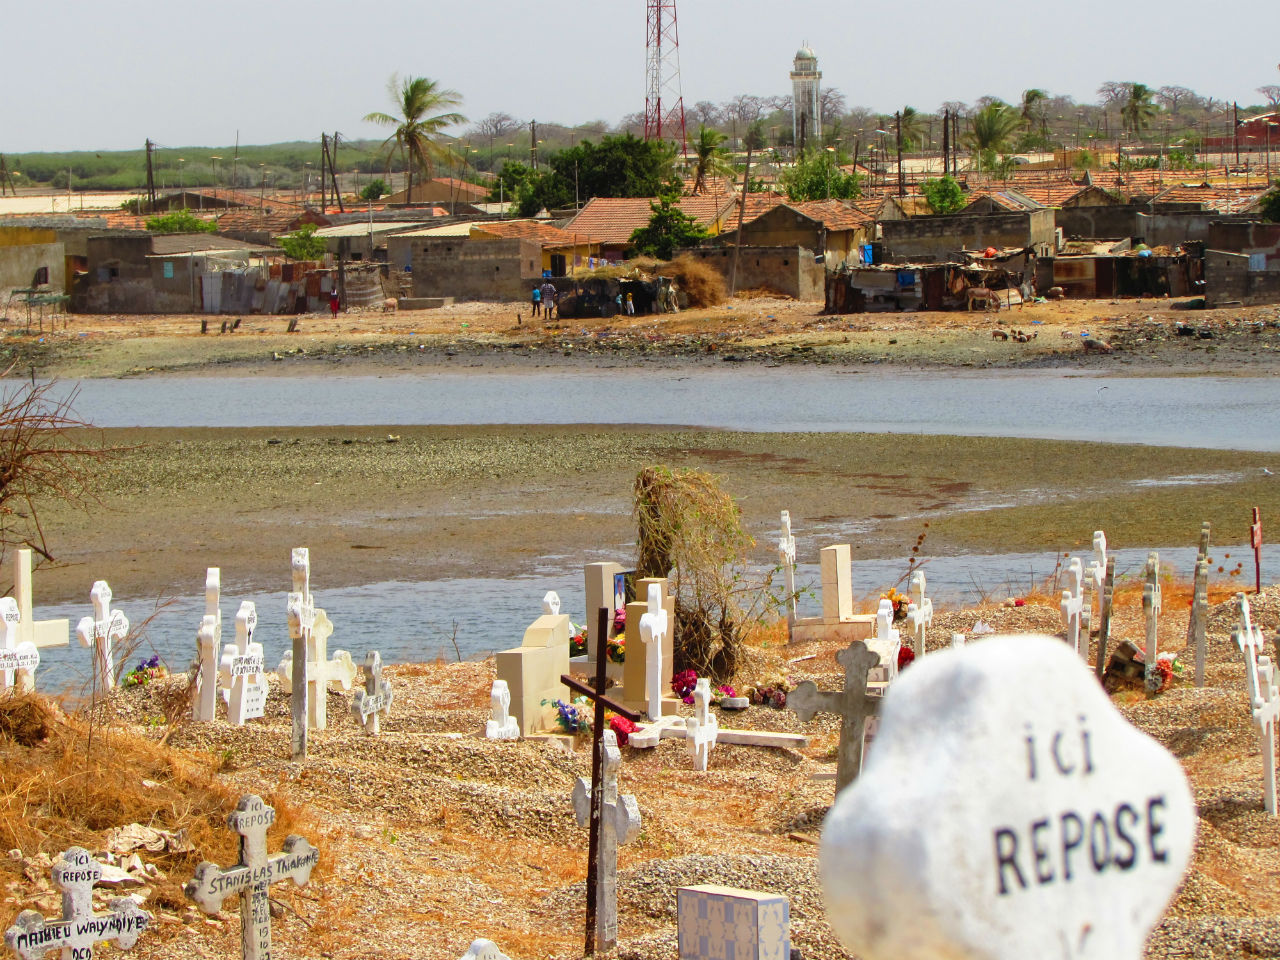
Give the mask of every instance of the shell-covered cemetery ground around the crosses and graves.
M 1151 938 L 1152 957 L 1280 956 L 1280 824 L 1262 809 L 1257 737 L 1243 664 L 1230 639 L 1236 604 L 1229 598 L 1236 582 L 1224 577 L 1211 593 L 1204 689 L 1193 686 L 1188 653 L 1187 672 L 1160 696 L 1115 695 L 1132 722 L 1179 756 L 1199 808 L 1193 867 Z M 1183 646 L 1188 600 L 1185 586 L 1166 585 L 1161 649 Z M 1275 636 L 1280 590 L 1253 598 L 1253 611 L 1254 622 Z M 945 645 L 952 631 L 969 631 L 979 616 L 997 632 L 1060 634 L 1056 604 L 1033 596 L 1018 608 L 940 612 L 929 648 Z M 1142 630 L 1137 588 L 1121 588 L 1112 636 L 1140 640 Z M 827 689 L 840 682 L 835 648 L 787 646 L 781 639 L 777 628 L 755 639 L 742 680 L 786 672 Z M 330 728 L 312 736 L 305 765 L 288 759 L 288 704 L 274 678 L 266 717 L 244 728 L 223 722 L 166 727 L 163 717 L 183 677 L 122 691 L 100 709 L 99 721 L 109 719 L 116 731 L 113 737 L 166 741 L 157 748 L 164 762 L 148 776 L 161 776 L 155 769 L 168 764 L 182 771 L 184 782 L 201 785 L 192 792 L 192 810 L 177 818 L 186 822 L 160 815 L 151 826 L 188 827 L 197 846 L 210 846 L 183 855 L 141 851 L 166 878 L 142 888 L 156 922 L 134 948 L 140 960 L 238 955 L 234 900 L 216 918 L 205 918 L 183 901 L 178 887 L 201 856 L 229 861 L 234 847 L 220 828 L 221 817 L 250 791 L 288 810 L 282 818 L 291 820 L 288 829 L 321 851 L 308 887 L 273 887 L 273 955 L 456 960 L 471 940 L 488 937 L 515 960 L 580 956 L 586 831 L 573 819 L 570 790 L 575 776 L 589 772 L 588 751 L 479 737 L 489 708 L 492 659 L 406 664 L 387 675 L 396 703 L 383 735 L 366 737 L 344 709 L 346 698 L 330 694 Z M 753 707 L 745 714 L 724 714 L 722 724 L 804 731 L 810 746 L 795 751 L 721 745 L 704 774 L 691 769 L 678 740 L 663 740 L 654 750 L 623 749 L 622 790 L 639 799 L 644 828 L 637 842 L 620 850 L 618 955 L 675 957 L 676 887 L 723 882 L 786 893 L 792 942 L 804 956 L 846 957 L 824 918 L 815 874 L 814 844 L 832 783 L 810 778 L 832 768 L 836 718 L 818 714 L 801 724 L 794 713 Z M 12 742 L 3 749 L 6 769 L 13 751 L 28 750 Z M 147 783 L 143 792 L 165 788 Z M 6 787 L 12 799 L 14 785 Z M 119 790 L 137 792 L 140 786 L 120 783 Z M 200 809 L 201 791 L 221 797 L 221 809 Z M 44 809 L 40 814 L 49 817 Z M 97 824 L 104 837 L 109 826 L 124 826 L 109 820 Z M 4 823 L 12 831 L 13 820 Z M 273 831 L 273 850 L 283 832 L 284 824 Z M 38 851 L 32 849 L 37 845 Z M 28 838 L 20 858 L 4 861 L 0 919 L 9 922 L 32 906 L 46 915 L 55 911 L 58 897 L 40 854 L 59 849 L 52 837 L 41 844 Z

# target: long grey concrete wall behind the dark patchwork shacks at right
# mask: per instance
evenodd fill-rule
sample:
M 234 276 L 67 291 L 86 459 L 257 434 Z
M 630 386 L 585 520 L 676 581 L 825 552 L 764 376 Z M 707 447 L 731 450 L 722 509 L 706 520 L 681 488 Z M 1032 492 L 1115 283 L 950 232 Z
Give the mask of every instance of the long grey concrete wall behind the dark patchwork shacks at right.
M 1053 210 L 972 216 L 913 216 L 908 220 L 882 220 L 890 260 L 948 260 L 961 250 L 986 247 L 1034 247 L 1046 256 L 1055 247 Z

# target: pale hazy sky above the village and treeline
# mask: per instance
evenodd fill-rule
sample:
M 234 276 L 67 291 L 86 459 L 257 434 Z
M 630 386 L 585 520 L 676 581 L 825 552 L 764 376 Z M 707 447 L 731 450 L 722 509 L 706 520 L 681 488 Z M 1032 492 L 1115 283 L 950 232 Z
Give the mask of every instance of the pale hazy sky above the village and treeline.
M 376 137 L 393 72 L 479 119 L 613 124 L 644 109 L 644 0 L 0 0 L 0 152 Z M 1221 19 L 1215 19 L 1220 14 Z M 1103 81 L 1260 102 L 1280 83 L 1280 0 L 1068 4 L 680 0 L 686 104 L 790 92 L 796 47 L 850 106 L 932 110 Z

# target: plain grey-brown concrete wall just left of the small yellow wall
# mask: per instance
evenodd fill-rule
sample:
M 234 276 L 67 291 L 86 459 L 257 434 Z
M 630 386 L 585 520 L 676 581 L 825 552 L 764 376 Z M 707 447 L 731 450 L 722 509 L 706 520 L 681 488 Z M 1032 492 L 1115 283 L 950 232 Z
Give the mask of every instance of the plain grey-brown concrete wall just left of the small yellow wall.
M 415 297 L 524 301 L 543 274 L 535 241 L 415 237 L 410 250 Z

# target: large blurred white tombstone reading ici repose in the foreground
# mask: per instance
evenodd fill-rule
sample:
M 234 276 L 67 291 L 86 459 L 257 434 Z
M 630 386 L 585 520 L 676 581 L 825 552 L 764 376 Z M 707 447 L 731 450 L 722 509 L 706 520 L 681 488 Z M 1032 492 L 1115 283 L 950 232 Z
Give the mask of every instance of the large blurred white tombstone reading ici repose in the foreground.
M 861 960 L 1139 960 L 1194 831 L 1181 765 L 1074 650 L 996 636 L 888 689 L 819 872 Z

